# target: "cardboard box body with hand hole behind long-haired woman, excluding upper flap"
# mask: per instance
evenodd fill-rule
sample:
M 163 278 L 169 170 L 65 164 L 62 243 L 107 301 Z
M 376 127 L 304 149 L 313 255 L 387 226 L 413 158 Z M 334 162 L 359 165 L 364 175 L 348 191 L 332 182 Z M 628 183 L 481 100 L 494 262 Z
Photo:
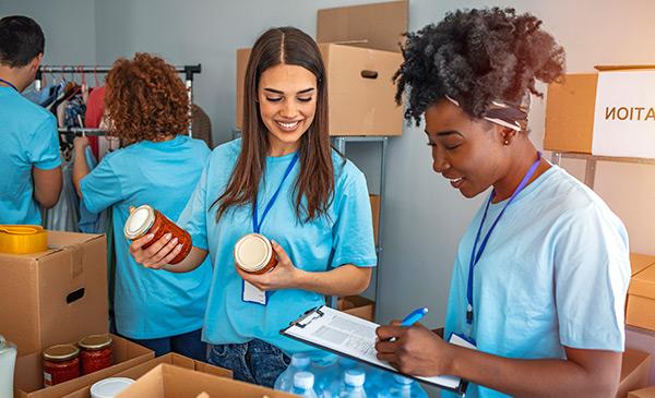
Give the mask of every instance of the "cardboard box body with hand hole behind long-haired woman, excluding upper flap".
M 401 135 L 403 107 L 395 104 L 392 76 L 397 52 L 319 45 L 327 74 L 330 135 Z M 237 50 L 237 129 L 243 126 L 243 80 L 250 49 Z

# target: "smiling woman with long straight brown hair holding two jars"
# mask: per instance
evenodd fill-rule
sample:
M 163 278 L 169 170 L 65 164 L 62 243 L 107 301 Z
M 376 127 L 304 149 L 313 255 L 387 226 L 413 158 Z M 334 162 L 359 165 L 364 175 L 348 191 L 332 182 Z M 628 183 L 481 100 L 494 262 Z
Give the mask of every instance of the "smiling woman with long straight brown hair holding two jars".
M 169 265 L 179 249 L 159 240 L 142 250 L 152 237 L 131 252 L 146 267 L 178 273 L 209 253 L 209 360 L 272 386 L 287 355 L 311 350 L 279 330 L 325 294 L 364 291 L 377 256 L 365 177 L 330 146 L 317 44 L 293 27 L 269 29 L 252 48 L 245 87 L 243 136 L 213 152 L 178 222 L 193 237 L 190 255 Z M 235 266 L 235 244 L 251 232 L 271 239 L 278 264 L 269 273 Z

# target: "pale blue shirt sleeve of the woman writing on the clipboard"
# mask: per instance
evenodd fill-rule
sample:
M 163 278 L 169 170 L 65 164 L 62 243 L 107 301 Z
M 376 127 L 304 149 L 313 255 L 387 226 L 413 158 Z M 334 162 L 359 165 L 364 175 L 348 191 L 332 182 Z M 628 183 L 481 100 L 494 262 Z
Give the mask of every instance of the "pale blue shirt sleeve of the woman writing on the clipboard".
M 596 205 L 571 210 L 555 251 L 560 342 L 579 349 L 623 351 L 630 281 L 628 234 Z

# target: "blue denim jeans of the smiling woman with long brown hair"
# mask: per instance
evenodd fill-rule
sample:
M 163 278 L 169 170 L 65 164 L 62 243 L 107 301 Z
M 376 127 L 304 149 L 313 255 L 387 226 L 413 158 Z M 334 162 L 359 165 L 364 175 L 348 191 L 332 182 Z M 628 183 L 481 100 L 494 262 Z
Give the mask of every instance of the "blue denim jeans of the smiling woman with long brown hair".
M 290 359 L 277 347 L 254 339 L 239 345 L 211 346 L 207 362 L 231 370 L 235 379 L 273 388 Z

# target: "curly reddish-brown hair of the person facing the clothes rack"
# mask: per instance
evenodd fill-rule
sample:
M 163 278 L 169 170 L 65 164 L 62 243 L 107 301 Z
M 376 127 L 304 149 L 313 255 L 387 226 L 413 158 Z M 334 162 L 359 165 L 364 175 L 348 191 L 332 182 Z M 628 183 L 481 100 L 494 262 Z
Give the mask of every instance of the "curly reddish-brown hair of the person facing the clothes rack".
M 180 134 L 189 124 L 187 88 L 175 68 L 162 58 L 136 53 L 118 59 L 106 80 L 108 135 L 123 145 Z

